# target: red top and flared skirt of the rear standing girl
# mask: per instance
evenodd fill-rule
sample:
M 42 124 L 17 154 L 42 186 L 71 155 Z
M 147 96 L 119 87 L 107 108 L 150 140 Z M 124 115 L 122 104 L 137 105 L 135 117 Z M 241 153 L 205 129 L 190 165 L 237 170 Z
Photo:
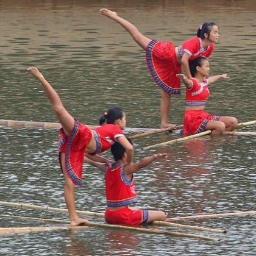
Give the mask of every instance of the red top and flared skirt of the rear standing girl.
M 187 52 L 190 55 L 189 60 L 194 60 L 201 56 L 208 58 L 213 49 L 213 44 L 205 49 L 202 46 L 202 39 L 195 37 L 180 45 L 178 52 L 180 57 Z M 182 67 L 177 62 L 172 42 L 152 40 L 146 49 L 146 61 L 149 73 L 160 88 L 169 94 L 180 94 L 180 79 L 176 74 L 181 73 Z

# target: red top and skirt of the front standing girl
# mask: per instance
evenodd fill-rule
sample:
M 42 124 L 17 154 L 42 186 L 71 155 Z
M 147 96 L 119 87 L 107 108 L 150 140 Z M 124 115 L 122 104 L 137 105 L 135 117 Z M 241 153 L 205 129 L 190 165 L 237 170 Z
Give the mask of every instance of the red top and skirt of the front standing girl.
M 69 136 L 66 136 L 61 128 L 59 131 L 59 160 L 60 154 L 64 153 L 66 171 L 75 185 L 82 185 L 84 155 L 93 136 L 92 132 L 97 146 L 94 154 L 106 151 L 118 137 L 124 136 L 120 127 L 114 124 L 106 124 L 95 130 L 90 130 L 76 119 L 74 119 L 74 128 Z M 62 165 L 60 167 L 62 168 Z

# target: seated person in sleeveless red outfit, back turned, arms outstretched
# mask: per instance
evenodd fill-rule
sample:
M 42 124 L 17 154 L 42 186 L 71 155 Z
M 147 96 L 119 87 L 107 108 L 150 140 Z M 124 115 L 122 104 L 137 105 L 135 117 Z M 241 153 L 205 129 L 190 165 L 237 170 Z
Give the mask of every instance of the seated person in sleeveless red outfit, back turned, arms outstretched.
M 128 138 L 130 143 L 132 141 Z M 155 160 L 161 160 L 166 154 L 154 154 L 145 157 L 138 163 L 127 162 L 126 149 L 116 142 L 111 147 L 115 162 L 111 166 L 85 158 L 85 162 L 105 171 L 105 196 L 107 209 L 105 210 L 105 221 L 109 224 L 124 224 L 138 226 L 152 221 L 165 221 L 166 215 L 162 211 L 138 210 L 130 208 L 129 205 L 137 202 L 133 173 L 148 166 Z

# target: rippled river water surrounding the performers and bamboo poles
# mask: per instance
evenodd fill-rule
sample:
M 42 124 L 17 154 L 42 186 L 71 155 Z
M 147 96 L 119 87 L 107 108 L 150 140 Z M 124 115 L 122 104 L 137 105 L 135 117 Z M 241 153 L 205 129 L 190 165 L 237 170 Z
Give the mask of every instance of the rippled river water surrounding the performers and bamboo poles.
M 228 73 L 230 79 L 210 88 L 207 112 L 236 116 L 240 122 L 256 119 L 255 2 L 205 2 L 0 1 L 0 118 L 57 122 L 40 85 L 26 72 L 35 65 L 83 123 L 96 125 L 107 108 L 119 105 L 126 111 L 128 127 L 159 127 L 160 93 L 148 74 L 144 51 L 122 27 L 99 15 L 101 7 L 108 7 L 148 37 L 176 45 L 193 37 L 200 24 L 215 21 L 220 37 L 210 58 L 211 74 Z M 172 97 L 172 123 L 182 124 L 183 104 L 184 90 Z M 57 130 L 0 127 L 1 201 L 65 207 L 57 136 Z M 169 133 L 133 141 L 135 161 L 168 153 L 165 161 L 135 174 L 137 207 L 164 210 L 169 217 L 256 210 L 255 137 L 204 137 L 141 150 L 178 137 Z M 101 172 L 85 165 L 83 186 L 76 195 L 78 209 L 104 212 Z M 0 214 L 68 219 L 65 213 L 2 205 Z M 184 222 L 226 229 L 226 234 L 204 233 L 219 238 L 218 243 L 88 227 L 1 236 L 0 254 L 255 255 L 255 220 L 252 215 Z M 0 226 L 52 224 L 0 216 Z

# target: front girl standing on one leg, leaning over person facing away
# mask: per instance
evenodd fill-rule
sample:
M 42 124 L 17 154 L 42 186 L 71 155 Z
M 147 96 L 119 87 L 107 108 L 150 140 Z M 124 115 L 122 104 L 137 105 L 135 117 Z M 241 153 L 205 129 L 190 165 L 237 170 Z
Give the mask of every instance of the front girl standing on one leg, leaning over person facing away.
M 59 160 L 65 177 L 65 202 L 68 208 L 71 226 L 78 226 L 87 222 L 77 216 L 74 200 L 75 185 L 82 185 L 82 168 L 84 155 L 99 162 L 109 163 L 104 157 L 96 155 L 110 149 L 118 141 L 127 152 L 127 162 L 132 162 L 133 146 L 124 137 L 123 129 L 126 126 L 126 115 L 121 108 L 110 108 L 105 113 L 107 124 L 90 130 L 87 126 L 73 118 L 60 100 L 54 88 L 44 79 L 35 67 L 27 69 L 43 85 L 46 96 L 52 104 L 55 115 L 62 124 L 59 137 Z

